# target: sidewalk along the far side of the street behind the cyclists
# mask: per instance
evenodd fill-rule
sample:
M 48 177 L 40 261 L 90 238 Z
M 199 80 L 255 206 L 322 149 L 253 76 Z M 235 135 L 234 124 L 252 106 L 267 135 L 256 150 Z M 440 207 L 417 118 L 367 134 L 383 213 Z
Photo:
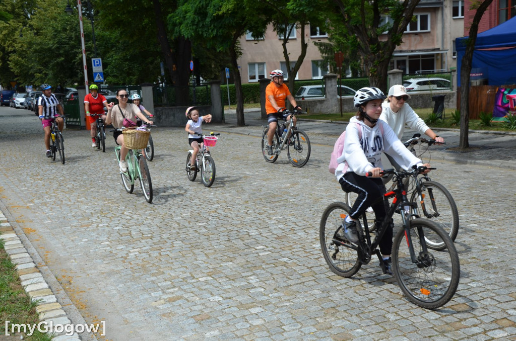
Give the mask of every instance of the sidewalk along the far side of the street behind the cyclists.
M 244 127 L 236 125 L 236 110 L 225 110 L 225 124 L 218 125 L 217 130 L 224 132 L 240 133 L 260 137 L 263 126 L 267 124 L 262 120 L 259 108 L 245 109 Z M 312 144 L 333 146 L 336 138 L 344 129 L 345 122 L 329 122 L 317 120 L 303 120 L 298 118 L 299 128 L 308 133 Z M 446 141 L 443 146 L 431 146 L 431 160 L 447 160 L 458 164 L 476 164 L 494 166 L 516 170 L 516 132 L 498 132 L 470 130 L 469 142 L 471 151 L 460 152 L 460 131 L 458 129 L 439 129 L 435 131 Z M 402 141 L 406 141 L 415 133 L 412 129 L 406 129 Z M 425 160 L 424 160 L 425 161 Z M 428 161 L 428 160 L 426 160 Z

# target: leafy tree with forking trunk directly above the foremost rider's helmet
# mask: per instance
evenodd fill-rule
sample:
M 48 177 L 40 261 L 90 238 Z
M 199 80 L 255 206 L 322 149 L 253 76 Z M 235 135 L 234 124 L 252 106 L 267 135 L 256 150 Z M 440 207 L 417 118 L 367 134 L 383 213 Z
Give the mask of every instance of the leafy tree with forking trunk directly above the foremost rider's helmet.
M 392 55 L 420 0 L 333 1 L 348 32 L 344 38 L 358 51 L 369 83 L 386 91 Z M 388 23 L 382 22 L 382 14 L 389 15 Z

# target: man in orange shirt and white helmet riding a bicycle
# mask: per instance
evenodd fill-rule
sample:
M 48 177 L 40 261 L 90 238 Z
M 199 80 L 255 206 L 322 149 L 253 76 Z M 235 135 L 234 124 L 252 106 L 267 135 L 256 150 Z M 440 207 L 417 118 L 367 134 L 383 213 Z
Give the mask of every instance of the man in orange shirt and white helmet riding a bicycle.
M 290 120 L 290 114 L 285 112 L 285 99 L 288 99 L 295 110 L 301 109 L 296 104 L 294 96 L 288 90 L 288 87 L 283 83 L 283 71 L 274 70 L 270 73 L 272 81 L 265 89 L 265 111 L 267 112 L 267 121 L 269 123 L 269 132 L 267 133 L 267 154 L 272 155 L 272 139 L 274 132 L 278 126 L 278 118 L 281 117 L 283 121 Z M 285 112 L 285 113 L 284 113 Z M 296 125 L 296 116 L 294 116 L 294 126 Z

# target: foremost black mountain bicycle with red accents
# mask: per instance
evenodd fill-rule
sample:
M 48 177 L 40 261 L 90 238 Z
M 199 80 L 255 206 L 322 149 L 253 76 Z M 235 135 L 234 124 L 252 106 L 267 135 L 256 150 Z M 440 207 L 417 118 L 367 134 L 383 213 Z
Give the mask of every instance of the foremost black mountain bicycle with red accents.
M 400 211 L 402 228 L 395 234 L 392 246 L 392 270 L 401 291 L 414 304 L 427 309 L 436 309 L 446 304 L 455 294 L 460 278 L 459 256 L 449 235 L 436 223 L 415 214 L 407 216 L 404 207 L 416 207 L 410 202 L 405 192 L 404 179 L 414 173 L 421 173 L 426 167 L 412 171 L 383 171 L 384 175 L 393 174 L 396 189 L 386 193 L 378 201 L 394 198 L 392 204 L 371 241 L 365 213 L 357 224 L 359 241 L 352 243 L 344 236 L 343 221 L 351 208 L 344 202 L 333 202 L 322 214 L 319 225 L 319 238 L 322 253 L 330 270 L 342 277 L 351 277 L 358 272 L 362 264 L 371 261 L 376 254 L 385 273 L 377 248 L 386 229 L 392 221 L 396 210 Z M 395 231 L 394 231 L 395 232 Z M 442 251 L 432 250 L 427 246 L 432 243 L 444 243 Z

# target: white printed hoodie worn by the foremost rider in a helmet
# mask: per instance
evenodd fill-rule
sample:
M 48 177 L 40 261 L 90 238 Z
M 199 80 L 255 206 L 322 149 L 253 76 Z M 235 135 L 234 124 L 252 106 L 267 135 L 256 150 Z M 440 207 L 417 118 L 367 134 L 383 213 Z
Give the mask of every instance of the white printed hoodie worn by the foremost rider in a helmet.
M 357 127 L 357 123 L 360 128 Z M 383 136 L 380 125 L 383 125 Z M 359 139 L 358 129 L 362 130 L 361 139 Z M 394 131 L 385 122 L 378 120 L 376 125 L 370 128 L 363 121 L 352 117 L 346 127 L 344 149 L 341 157 L 338 158 L 340 163 L 335 169 L 337 180 L 347 172 L 365 176 L 373 168 L 380 167 L 383 169 L 381 163 L 382 151 L 393 157 L 406 170 L 413 165 L 421 166 L 423 164 L 399 141 Z

